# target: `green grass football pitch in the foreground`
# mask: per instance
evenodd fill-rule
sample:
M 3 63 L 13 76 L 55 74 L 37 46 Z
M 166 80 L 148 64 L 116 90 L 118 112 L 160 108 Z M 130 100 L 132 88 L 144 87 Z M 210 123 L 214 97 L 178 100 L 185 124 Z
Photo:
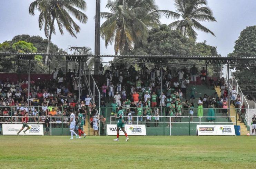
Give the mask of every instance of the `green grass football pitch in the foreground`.
M 0 168 L 255 168 L 256 136 L 0 136 Z

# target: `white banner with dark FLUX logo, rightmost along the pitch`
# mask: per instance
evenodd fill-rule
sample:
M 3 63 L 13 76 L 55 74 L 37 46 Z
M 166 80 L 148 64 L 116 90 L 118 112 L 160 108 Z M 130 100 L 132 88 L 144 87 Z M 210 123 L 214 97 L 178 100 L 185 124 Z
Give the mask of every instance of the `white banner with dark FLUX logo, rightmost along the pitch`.
M 234 125 L 196 125 L 197 136 L 233 136 Z

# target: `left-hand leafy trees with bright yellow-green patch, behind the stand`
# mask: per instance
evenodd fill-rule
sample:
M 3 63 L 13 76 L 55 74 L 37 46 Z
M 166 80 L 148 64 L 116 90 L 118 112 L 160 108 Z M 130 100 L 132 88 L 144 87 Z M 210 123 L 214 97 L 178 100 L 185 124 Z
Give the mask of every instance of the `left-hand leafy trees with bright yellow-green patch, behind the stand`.
M 17 35 L 13 37 L 10 41 L 4 41 L 0 43 L 0 52 L 30 52 L 30 53 L 45 53 L 47 49 L 48 40 L 43 39 L 40 36 L 29 36 L 27 34 Z M 50 43 L 51 50 L 50 53 L 60 53 L 66 54 L 67 52 L 59 49 L 53 43 Z M 4 56 L 0 61 L 0 72 L 18 72 L 18 58 L 15 56 Z M 16 61 L 8 61 L 16 60 Z M 42 62 L 44 58 L 42 56 L 35 56 L 35 61 L 31 62 L 31 72 L 32 73 L 49 73 L 53 69 L 61 67 L 62 70 L 66 69 L 66 59 L 65 57 L 49 57 L 49 66 L 44 66 Z M 14 66 L 15 64 L 15 66 Z M 71 63 L 70 63 L 71 64 Z M 28 61 L 20 60 L 20 72 L 27 72 Z M 70 67 L 70 65 L 69 65 Z M 72 66 L 71 66 L 72 67 Z

